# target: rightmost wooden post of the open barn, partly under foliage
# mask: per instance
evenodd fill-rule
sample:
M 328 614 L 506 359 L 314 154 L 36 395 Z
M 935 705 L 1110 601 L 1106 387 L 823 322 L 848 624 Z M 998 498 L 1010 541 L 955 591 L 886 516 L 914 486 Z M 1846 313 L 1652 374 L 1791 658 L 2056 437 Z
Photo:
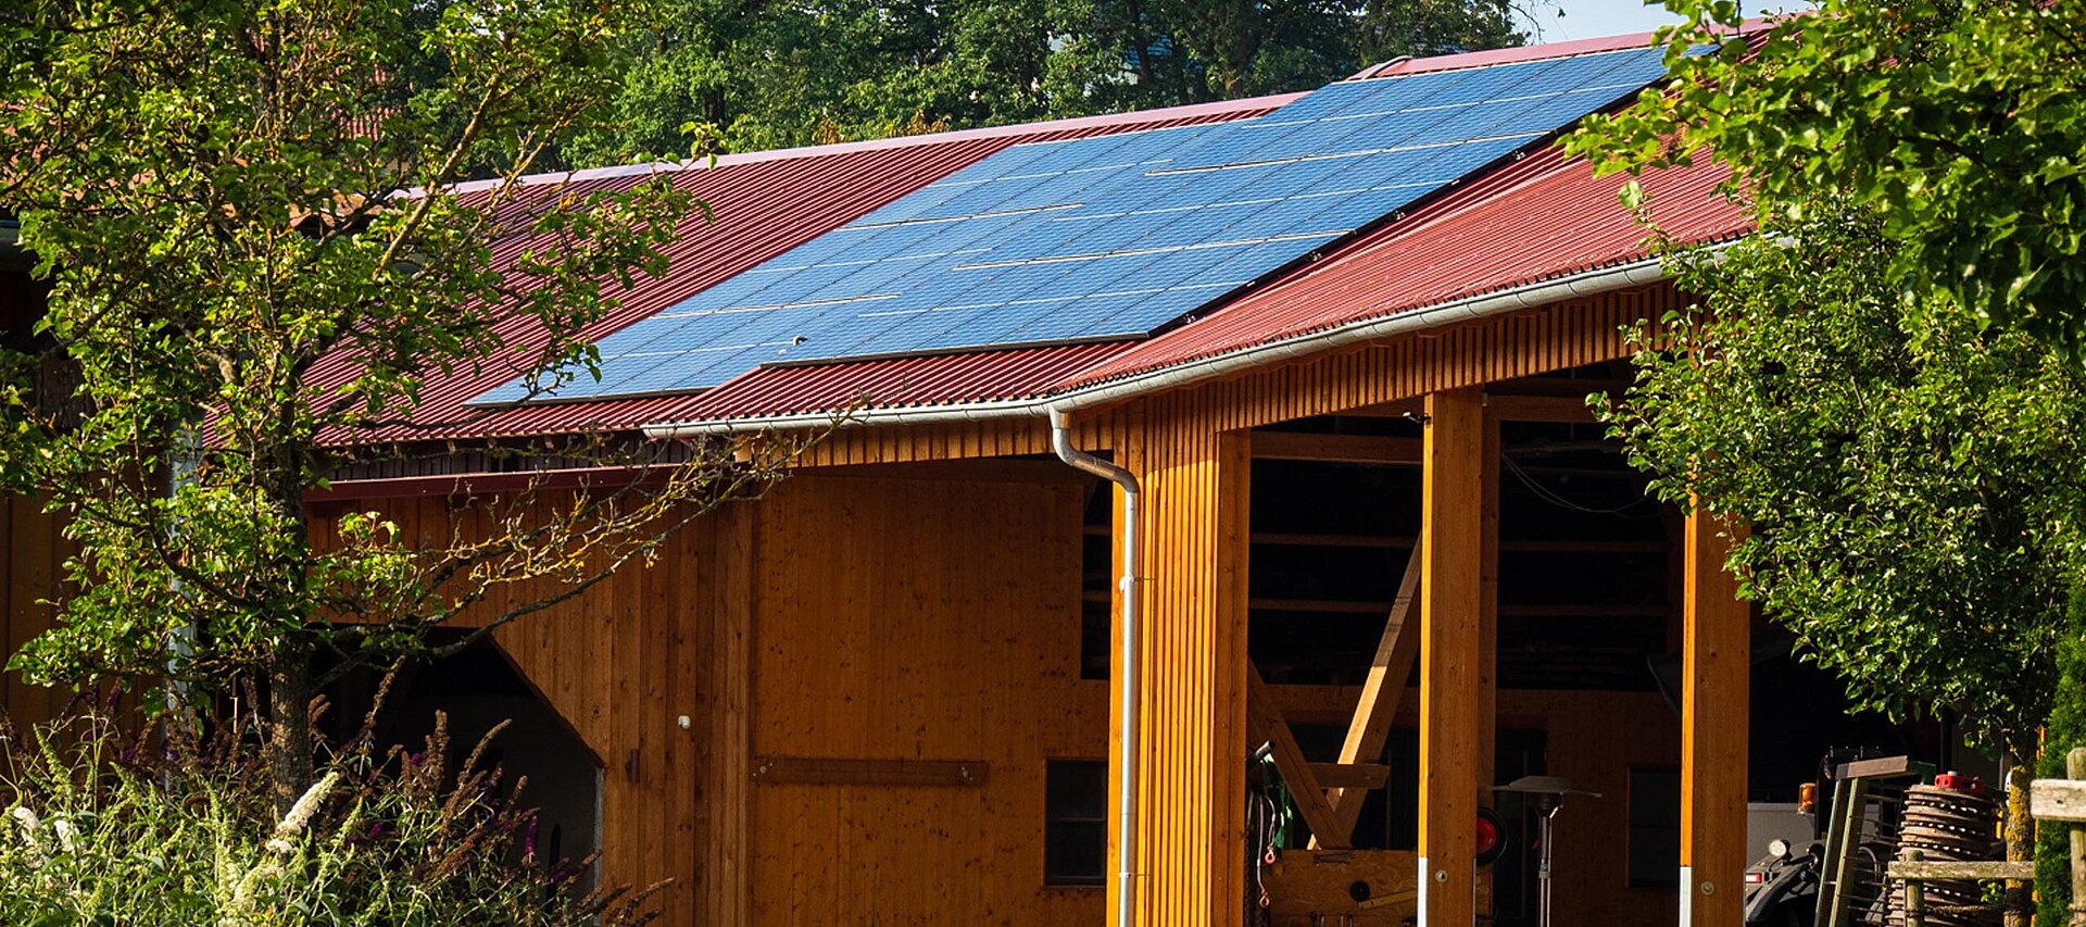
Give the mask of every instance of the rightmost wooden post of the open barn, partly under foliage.
M 1681 683 L 1681 927 L 1744 917 L 1752 610 L 1725 572 L 1727 528 L 1688 516 Z

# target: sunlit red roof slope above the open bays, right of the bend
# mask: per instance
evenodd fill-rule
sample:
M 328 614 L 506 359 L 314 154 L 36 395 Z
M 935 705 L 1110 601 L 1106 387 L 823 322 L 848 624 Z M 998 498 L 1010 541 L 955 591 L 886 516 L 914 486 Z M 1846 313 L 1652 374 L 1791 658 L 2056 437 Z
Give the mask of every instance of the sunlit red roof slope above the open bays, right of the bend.
M 1658 225 L 1681 244 L 1727 240 L 1752 223 L 1717 192 L 1711 159 L 1640 177 Z M 1222 355 L 1354 322 L 1425 309 L 1650 257 L 1646 230 L 1581 159 L 1544 150 L 1479 177 L 1239 301 L 1124 351 L 1060 388 Z

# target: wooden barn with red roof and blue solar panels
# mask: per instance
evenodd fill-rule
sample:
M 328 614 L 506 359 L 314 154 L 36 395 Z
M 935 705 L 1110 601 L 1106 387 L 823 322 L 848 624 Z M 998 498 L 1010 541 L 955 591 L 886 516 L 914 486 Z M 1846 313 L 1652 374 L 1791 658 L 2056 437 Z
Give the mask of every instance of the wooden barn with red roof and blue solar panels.
M 1537 800 L 1491 791 L 1527 775 L 1587 791 L 1556 925 L 1738 925 L 1748 800 L 1832 735 L 1752 731 L 1727 528 L 1648 501 L 1585 401 L 1688 303 L 1623 177 L 1552 144 L 1658 79 L 1646 42 L 684 169 L 718 219 L 597 332 L 599 384 L 457 376 L 426 413 L 469 426 L 348 441 L 845 422 L 407 702 L 522 718 L 567 846 L 676 879 L 674 927 L 1531 925 Z M 1719 242 L 1719 180 L 1642 184 Z M 315 505 L 446 537 L 499 486 L 469 459 Z M 6 512 L 17 643 L 56 537 Z

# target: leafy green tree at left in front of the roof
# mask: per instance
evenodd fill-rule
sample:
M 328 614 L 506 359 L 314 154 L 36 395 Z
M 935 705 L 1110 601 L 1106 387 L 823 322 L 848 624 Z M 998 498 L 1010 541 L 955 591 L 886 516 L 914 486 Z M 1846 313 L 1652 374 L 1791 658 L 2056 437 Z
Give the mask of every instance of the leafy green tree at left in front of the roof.
M 0 211 L 52 284 L 40 347 L 6 359 L 0 478 L 79 545 L 58 626 L 10 666 L 202 693 L 263 676 L 286 808 L 313 779 L 315 658 L 390 660 L 474 608 L 519 618 L 549 599 L 503 589 L 576 595 L 757 482 L 699 459 L 572 505 L 474 501 L 434 543 L 307 505 L 340 464 L 330 443 L 415 422 L 428 376 L 584 376 L 582 328 L 663 267 L 693 205 L 665 177 L 519 182 L 615 92 L 615 38 L 645 19 L 599 0 L 0 15 Z M 325 359 L 348 363 L 319 380 Z M 52 363 L 69 395 L 31 395 L 19 374 Z

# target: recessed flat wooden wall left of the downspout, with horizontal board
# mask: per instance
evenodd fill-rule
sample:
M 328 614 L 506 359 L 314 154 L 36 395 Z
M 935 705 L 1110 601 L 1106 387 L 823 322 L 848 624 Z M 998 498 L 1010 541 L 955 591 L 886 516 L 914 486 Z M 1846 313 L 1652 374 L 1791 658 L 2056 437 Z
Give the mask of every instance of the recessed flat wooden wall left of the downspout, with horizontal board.
M 1078 679 L 1085 493 L 822 476 L 770 493 L 753 754 L 983 760 L 989 775 L 755 783 L 749 923 L 1101 921 L 1101 887 L 1043 885 L 1041 839 L 1045 760 L 1108 752 L 1108 683 Z

